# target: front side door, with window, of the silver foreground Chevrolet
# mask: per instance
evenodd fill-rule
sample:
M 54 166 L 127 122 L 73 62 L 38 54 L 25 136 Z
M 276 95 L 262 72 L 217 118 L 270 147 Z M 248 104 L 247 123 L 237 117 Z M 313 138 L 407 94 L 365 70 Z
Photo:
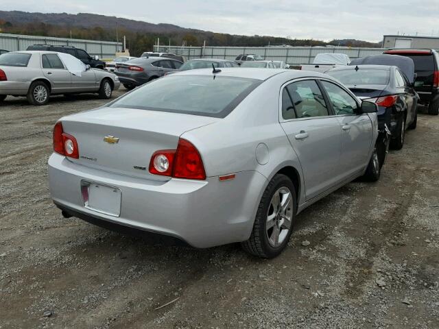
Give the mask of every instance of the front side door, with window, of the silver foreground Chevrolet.
M 334 82 L 320 80 L 320 83 L 340 123 L 342 153 L 336 174 L 340 180 L 345 180 L 368 164 L 373 138 L 372 121 L 368 114 L 357 114 L 359 102 L 351 93 Z

